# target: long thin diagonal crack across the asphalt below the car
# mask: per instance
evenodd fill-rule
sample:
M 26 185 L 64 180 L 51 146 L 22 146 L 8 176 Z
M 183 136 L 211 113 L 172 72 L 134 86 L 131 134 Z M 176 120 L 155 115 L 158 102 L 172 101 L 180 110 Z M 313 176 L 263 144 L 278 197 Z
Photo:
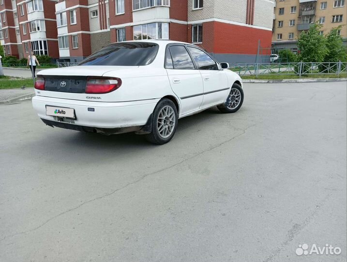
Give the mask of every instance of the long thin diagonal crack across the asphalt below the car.
M 159 169 L 159 170 L 157 170 L 157 171 L 154 171 L 154 172 L 152 172 L 152 173 L 143 175 L 143 176 L 140 177 L 139 179 L 137 179 L 137 180 L 135 180 L 135 181 L 133 181 L 133 182 L 127 183 L 126 185 L 124 185 L 124 186 L 122 186 L 122 187 L 120 187 L 120 188 L 117 188 L 117 189 L 113 190 L 112 192 L 110 192 L 110 193 L 108 193 L 108 194 L 102 195 L 102 196 L 100 196 L 100 197 L 95 197 L 95 198 L 93 198 L 93 199 L 91 199 L 91 200 L 88 200 L 88 201 L 85 201 L 85 202 L 79 204 L 78 206 L 76 206 L 76 207 L 74 207 L 74 208 L 71 208 L 71 209 L 66 210 L 66 211 L 64 211 L 64 212 L 62 212 L 62 213 L 59 213 L 59 214 L 57 214 L 57 215 L 55 215 L 55 216 L 49 218 L 49 219 L 46 220 L 43 224 L 41 224 L 40 226 L 37 226 L 37 227 L 34 228 L 34 229 L 30 229 L 30 230 L 22 231 L 22 232 L 17 232 L 17 233 L 12 234 L 12 235 L 4 236 L 2 239 L 0 239 L 0 242 L 2 242 L 3 240 L 5 240 L 6 238 L 9 238 L 9 237 L 14 237 L 14 236 L 17 236 L 17 235 L 30 233 L 30 232 L 33 232 L 33 231 L 35 231 L 35 230 L 37 230 L 37 229 L 40 229 L 41 227 L 45 226 L 45 224 L 47 224 L 48 222 L 52 221 L 53 219 L 56 219 L 57 217 L 59 217 L 59 216 L 61 216 L 61 215 L 63 215 L 63 214 L 66 214 L 66 213 L 69 213 L 69 212 L 71 212 L 71 211 L 74 211 L 74 210 L 80 208 L 81 206 L 83 206 L 83 205 L 85 205 L 85 204 L 88 204 L 88 203 L 91 203 L 91 202 L 93 202 L 93 201 L 96 201 L 96 200 L 99 200 L 99 199 L 102 199 L 102 198 L 111 196 L 111 195 L 115 194 L 116 192 L 118 192 L 118 191 L 120 191 L 120 190 L 122 190 L 122 189 L 124 189 L 124 188 L 126 188 L 126 187 L 128 187 L 128 186 L 130 186 L 130 185 L 134 185 L 134 184 L 136 184 L 137 182 L 139 182 L 139 181 L 141 181 L 141 180 L 144 180 L 145 178 L 147 178 L 147 177 L 149 177 L 149 176 L 151 176 L 151 175 L 154 175 L 154 174 L 160 173 L 160 172 L 162 172 L 162 171 L 165 171 L 165 170 L 167 170 L 167 169 L 170 169 L 170 168 L 172 168 L 172 167 L 178 166 L 178 165 L 180 165 L 180 164 L 182 164 L 182 163 L 184 163 L 184 162 L 187 162 L 187 161 L 189 161 L 189 160 L 191 160 L 191 159 L 193 159 L 193 158 L 195 158 L 195 157 L 197 157 L 197 156 L 199 156 L 199 155 L 201 155 L 201 154 L 203 154 L 203 153 L 205 153 L 205 152 L 209 152 L 209 151 L 213 150 L 214 148 L 220 147 L 220 146 L 222 146 L 222 145 L 224 145 L 224 144 L 226 144 L 226 143 L 228 143 L 228 142 L 234 140 L 235 138 L 237 138 L 237 137 L 243 135 L 248 129 L 250 129 L 250 128 L 252 128 L 252 127 L 255 127 L 256 125 L 260 125 L 260 124 L 262 124 L 262 123 L 263 123 L 263 121 L 262 121 L 262 122 L 258 122 L 258 123 L 254 124 L 254 125 L 248 126 L 248 127 L 245 128 L 245 129 L 240 129 L 240 130 L 242 130 L 242 132 L 241 132 L 240 134 L 235 135 L 235 136 L 233 136 L 232 138 L 230 138 L 230 139 L 228 139 L 228 140 L 226 140 L 226 141 L 224 141 L 224 142 L 222 142 L 222 143 L 219 143 L 219 144 L 217 144 L 217 145 L 215 145 L 215 146 L 209 147 L 208 149 L 206 149 L 206 150 L 204 150 L 204 151 L 201 151 L 201 152 L 199 152 L 199 153 L 197 153 L 197 154 L 191 156 L 190 158 L 184 159 L 184 160 L 182 160 L 182 161 L 179 162 L 179 163 L 172 164 L 172 165 L 170 165 L 170 166 L 164 167 L 164 168 Z

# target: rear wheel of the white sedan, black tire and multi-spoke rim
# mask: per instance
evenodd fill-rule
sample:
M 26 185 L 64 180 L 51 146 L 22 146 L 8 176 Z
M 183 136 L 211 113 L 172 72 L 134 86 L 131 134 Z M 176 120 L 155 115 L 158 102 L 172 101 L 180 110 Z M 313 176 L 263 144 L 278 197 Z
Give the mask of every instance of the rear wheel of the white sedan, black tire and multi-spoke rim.
M 176 105 L 167 98 L 158 102 L 152 114 L 152 131 L 146 139 L 157 145 L 169 142 L 175 135 L 178 122 Z

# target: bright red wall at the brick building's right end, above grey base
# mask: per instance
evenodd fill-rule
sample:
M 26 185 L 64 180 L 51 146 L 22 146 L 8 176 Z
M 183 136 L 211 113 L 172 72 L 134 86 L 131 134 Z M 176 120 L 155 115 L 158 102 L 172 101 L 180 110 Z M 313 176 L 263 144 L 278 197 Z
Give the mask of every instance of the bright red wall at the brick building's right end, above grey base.
M 221 22 L 213 23 L 213 53 L 256 54 L 259 39 L 262 47 L 271 47 L 272 31 Z M 206 31 L 204 23 L 203 37 Z M 205 38 L 203 45 L 205 46 Z

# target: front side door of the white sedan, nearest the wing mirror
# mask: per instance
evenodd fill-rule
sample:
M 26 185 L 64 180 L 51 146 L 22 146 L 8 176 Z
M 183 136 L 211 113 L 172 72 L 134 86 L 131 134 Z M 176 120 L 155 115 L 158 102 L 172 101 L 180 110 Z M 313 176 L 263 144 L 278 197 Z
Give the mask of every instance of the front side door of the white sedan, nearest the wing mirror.
M 194 46 L 188 46 L 187 49 L 198 66 L 203 79 L 204 96 L 200 107 L 204 108 L 223 102 L 229 92 L 224 70 L 220 70 L 217 63 L 203 50 Z

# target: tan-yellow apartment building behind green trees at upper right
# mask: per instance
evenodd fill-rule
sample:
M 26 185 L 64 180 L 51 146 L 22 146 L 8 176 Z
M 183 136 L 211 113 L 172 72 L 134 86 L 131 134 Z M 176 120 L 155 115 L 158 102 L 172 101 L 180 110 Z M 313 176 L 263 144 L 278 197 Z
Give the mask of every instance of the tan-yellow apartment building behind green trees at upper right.
M 322 25 L 321 34 L 329 33 L 339 25 L 338 33 L 347 40 L 347 0 L 276 0 L 272 44 L 274 48 L 297 50 L 300 33 L 312 23 Z

